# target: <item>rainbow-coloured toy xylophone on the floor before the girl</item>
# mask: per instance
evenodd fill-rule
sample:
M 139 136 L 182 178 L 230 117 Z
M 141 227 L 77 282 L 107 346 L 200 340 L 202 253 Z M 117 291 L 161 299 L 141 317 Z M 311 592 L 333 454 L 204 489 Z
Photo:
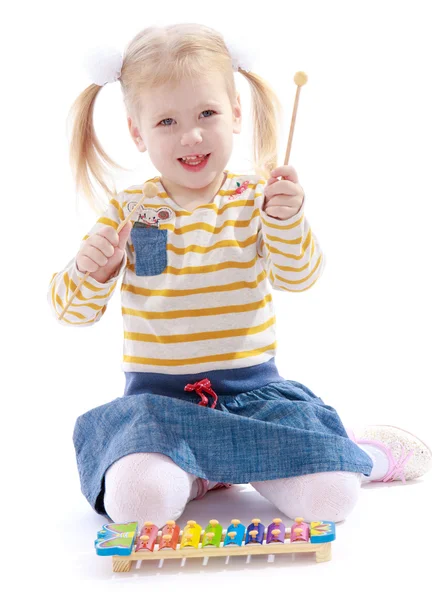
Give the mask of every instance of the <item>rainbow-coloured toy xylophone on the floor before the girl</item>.
M 331 559 L 331 542 L 336 538 L 332 521 L 312 521 L 308 525 L 302 517 L 286 528 L 279 518 L 265 528 L 260 519 L 252 519 L 246 528 L 238 519 L 232 519 L 226 533 L 219 521 L 211 519 L 207 527 L 188 521 L 184 530 L 175 521 L 167 521 L 162 531 L 146 521 L 137 537 L 138 523 L 110 523 L 104 525 L 95 540 L 96 553 L 112 556 L 113 571 L 130 571 L 133 561 L 164 560 L 168 558 L 204 557 L 253 554 L 284 554 L 314 552 L 317 562 Z M 229 558 L 227 558 L 227 561 Z

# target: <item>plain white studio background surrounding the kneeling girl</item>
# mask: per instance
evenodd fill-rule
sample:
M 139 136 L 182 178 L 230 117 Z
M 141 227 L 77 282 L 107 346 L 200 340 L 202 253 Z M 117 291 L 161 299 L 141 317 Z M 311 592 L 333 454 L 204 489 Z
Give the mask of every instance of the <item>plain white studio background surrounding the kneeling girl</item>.
M 3 529 L 2 546 L 16 543 L 3 560 L 3 582 L 16 579 L 16 590 L 36 586 L 48 597 L 87 597 L 93 590 L 111 597 L 120 589 L 147 597 L 216 597 L 238 593 L 237 584 L 250 585 L 254 595 L 273 588 L 280 597 L 306 598 L 378 597 L 381 591 L 402 598 L 423 584 L 429 589 L 432 560 L 423 539 L 430 474 L 406 486 L 364 487 L 338 528 L 329 563 L 210 559 L 207 567 L 189 561 L 181 569 L 168 561 L 161 569 L 155 562 L 136 574 L 113 575 L 109 559 L 93 550 L 106 520 L 80 492 L 72 430 L 78 415 L 122 395 L 119 289 L 103 319 L 85 329 L 60 325 L 46 300 L 52 274 L 76 254 L 97 218 L 82 200 L 76 208 L 68 164 L 67 113 L 90 83 L 82 56 L 100 43 L 122 50 L 151 24 L 211 25 L 258 50 L 255 71 L 285 108 L 280 164 L 294 73 L 309 77 L 290 164 L 305 189 L 307 218 L 327 267 L 304 294 L 273 293 L 279 371 L 334 406 L 346 426 L 394 424 L 431 444 L 428 9 L 430 3 L 413 0 L 75 0 L 3 8 L 2 517 L 11 528 Z M 243 133 L 235 136 L 228 168 L 241 172 L 251 159 L 250 96 L 241 75 L 236 81 Z M 131 169 L 118 174 L 117 189 L 156 174 L 129 137 L 118 83 L 99 94 L 95 119 L 104 149 Z M 191 503 L 179 523 L 234 516 L 283 517 L 250 486 L 238 486 Z

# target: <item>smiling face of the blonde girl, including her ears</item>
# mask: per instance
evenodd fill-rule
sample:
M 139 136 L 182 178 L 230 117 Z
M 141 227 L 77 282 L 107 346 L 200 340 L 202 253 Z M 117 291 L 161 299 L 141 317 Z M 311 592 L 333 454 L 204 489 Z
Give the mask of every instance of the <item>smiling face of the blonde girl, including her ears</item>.
M 141 127 L 128 117 L 129 130 L 164 178 L 201 189 L 220 176 L 231 156 L 233 133 L 241 128 L 239 96 L 232 107 L 222 74 L 152 89 L 144 94 L 142 107 Z M 204 168 L 182 166 L 182 157 L 198 154 L 210 154 Z

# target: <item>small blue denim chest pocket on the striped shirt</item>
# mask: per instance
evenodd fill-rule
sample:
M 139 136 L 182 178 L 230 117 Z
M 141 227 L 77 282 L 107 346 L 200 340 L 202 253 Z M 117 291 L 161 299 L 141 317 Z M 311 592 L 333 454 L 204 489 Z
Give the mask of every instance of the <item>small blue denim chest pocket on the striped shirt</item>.
M 168 265 L 166 229 L 158 227 L 132 227 L 131 239 L 135 249 L 135 273 L 160 275 Z

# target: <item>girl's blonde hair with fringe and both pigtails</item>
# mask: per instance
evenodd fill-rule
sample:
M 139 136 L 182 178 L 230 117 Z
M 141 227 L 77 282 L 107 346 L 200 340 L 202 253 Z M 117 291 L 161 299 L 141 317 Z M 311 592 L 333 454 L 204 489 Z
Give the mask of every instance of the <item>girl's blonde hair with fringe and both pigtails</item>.
M 176 84 L 185 77 L 211 72 L 224 75 L 228 96 L 233 105 L 236 87 L 232 59 L 223 37 L 214 29 L 195 23 L 181 23 L 165 27 L 154 26 L 140 31 L 128 44 L 123 54 L 119 79 L 123 99 L 132 121 L 139 122 L 143 88 L 167 83 Z M 252 96 L 253 166 L 257 174 L 268 178 L 277 166 L 278 123 L 281 104 L 270 85 L 256 73 L 239 72 L 247 79 Z M 93 110 L 101 86 L 91 84 L 73 103 L 70 163 L 74 172 L 77 192 L 83 192 L 90 205 L 98 212 L 99 198 L 94 191 L 90 174 L 109 197 L 117 192 L 107 182 L 106 166 L 123 169 L 103 150 L 93 121 Z M 105 164 L 104 164 L 105 163 Z M 112 181 L 112 178 L 111 178 Z M 101 210 L 105 209 L 102 202 Z

